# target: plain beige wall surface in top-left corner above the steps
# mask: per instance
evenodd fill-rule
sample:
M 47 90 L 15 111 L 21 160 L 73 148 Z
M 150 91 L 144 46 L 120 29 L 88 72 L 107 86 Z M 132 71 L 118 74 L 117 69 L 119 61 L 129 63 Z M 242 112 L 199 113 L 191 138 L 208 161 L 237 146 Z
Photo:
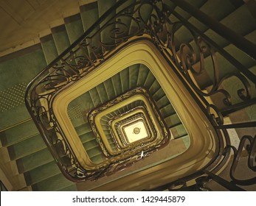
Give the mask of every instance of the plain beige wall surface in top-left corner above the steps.
M 38 42 L 39 35 L 96 0 L 0 0 L 0 56 Z

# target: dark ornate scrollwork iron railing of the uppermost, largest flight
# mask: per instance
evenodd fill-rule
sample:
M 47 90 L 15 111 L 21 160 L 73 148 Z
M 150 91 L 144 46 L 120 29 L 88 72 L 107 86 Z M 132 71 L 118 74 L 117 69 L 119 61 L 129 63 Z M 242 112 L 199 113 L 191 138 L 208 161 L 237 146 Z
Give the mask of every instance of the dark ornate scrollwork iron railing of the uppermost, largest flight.
M 170 3 L 170 4 L 169 4 Z M 163 57 L 170 63 L 173 71 L 186 85 L 187 90 L 204 114 L 212 122 L 219 136 L 219 152 L 212 163 L 204 168 L 203 171 L 196 172 L 190 177 L 184 177 L 179 180 L 186 185 L 186 181 L 206 175 L 210 180 L 221 182 L 226 188 L 238 190 L 236 185 L 252 185 L 256 183 L 256 177 L 249 180 L 238 180 L 235 177 L 235 168 L 239 163 L 242 149 L 245 146 L 248 152 L 248 168 L 255 171 L 256 163 L 256 136 L 243 132 L 238 149 L 230 143 L 229 129 L 254 128 L 256 121 L 242 121 L 235 124 L 226 124 L 225 117 L 232 115 L 236 111 L 243 110 L 246 107 L 252 107 L 256 99 L 252 98 L 252 87 L 255 87 L 256 76 L 241 64 L 235 57 L 232 57 L 227 51 L 218 46 L 204 32 L 201 32 L 195 26 L 190 24 L 185 18 L 174 10 L 175 7 L 181 7 L 190 15 L 197 18 L 201 23 L 206 24 L 222 37 L 230 40 L 241 51 L 248 54 L 252 59 L 256 59 L 256 46 L 232 32 L 231 29 L 209 18 L 200 10 L 187 4 L 185 1 L 174 0 L 148 0 L 136 1 L 134 4 L 128 4 L 127 1 L 118 1 L 118 3 L 108 10 L 99 20 L 91 26 L 75 43 L 72 44 L 63 54 L 60 54 L 44 71 L 38 74 L 27 87 L 25 102 L 35 124 L 43 135 L 50 151 L 58 162 L 60 170 L 69 180 L 80 181 L 102 175 L 105 170 L 112 171 L 110 166 L 102 171 L 86 171 L 77 163 L 76 157 L 69 142 L 66 141 L 62 129 L 59 127 L 58 119 L 52 111 L 52 102 L 60 91 L 69 88 L 79 79 L 86 77 L 90 71 L 93 71 L 105 60 L 112 57 L 119 49 L 134 43 L 136 40 L 150 40 L 156 45 L 156 48 L 162 53 Z M 122 8 L 114 16 L 117 8 Z M 144 9 L 152 10 L 148 18 L 144 15 Z M 169 16 L 176 17 L 171 21 Z M 132 29 L 128 25 L 132 24 Z M 190 33 L 193 43 L 176 42 L 176 32 L 183 26 Z M 106 40 L 100 40 L 99 36 L 103 32 L 108 32 Z M 218 65 L 218 56 L 227 60 L 234 66 L 235 72 L 229 72 L 220 76 L 222 71 Z M 212 86 L 204 90 L 198 86 L 195 78 L 200 77 L 207 70 L 205 60 L 210 57 L 212 61 Z M 196 68 L 197 65 L 198 67 Z M 223 85 L 228 79 L 236 78 L 240 82 L 237 93 L 226 90 Z M 221 95 L 222 101 L 214 102 L 215 95 Z M 235 102 L 234 102 L 235 99 Z M 221 105 L 219 104 L 221 103 Z M 230 169 L 229 180 L 223 180 L 215 174 L 224 167 L 233 151 L 234 160 Z M 62 155 L 60 155 L 62 154 Z M 61 158 L 65 156 L 63 160 Z M 117 166 L 122 168 L 125 164 Z M 200 181 L 199 181 L 200 182 Z M 202 182 L 202 181 L 201 181 Z M 204 181 L 203 181 L 204 182 Z M 170 185 L 176 185 L 176 182 Z M 169 186 L 170 186 L 169 185 Z

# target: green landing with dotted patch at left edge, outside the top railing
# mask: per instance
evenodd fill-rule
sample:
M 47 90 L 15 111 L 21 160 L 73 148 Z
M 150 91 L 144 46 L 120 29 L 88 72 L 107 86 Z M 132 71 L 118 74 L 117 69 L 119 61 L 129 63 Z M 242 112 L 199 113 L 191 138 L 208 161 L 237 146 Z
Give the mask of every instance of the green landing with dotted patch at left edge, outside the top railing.
M 0 82 L 4 82 L 0 84 L 1 130 L 30 118 L 24 104 L 25 89 L 31 79 L 45 67 L 41 44 L 0 58 Z M 18 92 L 17 96 L 14 96 L 15 91 Z

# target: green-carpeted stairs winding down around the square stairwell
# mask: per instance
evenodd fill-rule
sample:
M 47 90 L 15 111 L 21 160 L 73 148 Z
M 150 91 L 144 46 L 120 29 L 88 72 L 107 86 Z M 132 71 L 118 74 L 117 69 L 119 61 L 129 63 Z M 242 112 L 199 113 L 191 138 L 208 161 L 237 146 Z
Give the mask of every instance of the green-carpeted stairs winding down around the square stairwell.
M 0 88 L 1 170 L 4 171 L 10 185 L 12 185 L 11 190 L 122 190 L 122 188 L 125 187 L 120 188 L 120 186 L 117 186 L 118 183 L 120 184 L 120 182 L 118 182 L 120 179 L 126 178 L 124 182 L 128 184 L 128 177 L 133 174 L 142 178 L 142 171 L 157 166 L 165 161 L 172 160 L 190 148 L 191 137 L 189 132 L 187 132 L 190 128 L 187 128 L 187 125 L 184 126 L 181 114 L 177 112 L 177 110 L 179 110 L 177 109 L 177 104 L 170 101 L 170 97 L 167 96 L 167 92 L 170 91 L 162 88 L 162 79 L 156 78 L 156 72 L 151 71 L 151 68 L 148 68 L 147 65 L 143 63 L 128 65 L 122 68 L 122 70 L 113 73 L 114 75 L 111 77 L 103 79 L 100 84 L 91 86 L 91 88 L 86 89 L 80 96 L 69 101 L 66 108 L 67 116 L 69 116 L 72 127 L 75 128 L 75 132 L 77 132 L 77 136 L 83 145 L 83 149 L 85 149 L 88 154 L 89 160 L 91 160 L 92 163 L 100 164 L 104 163 L 106 157 L 100 146 L 99 139 L 95 137 L 95 131 L 91 127 L 90 120 L 87 118 L 89 113 L 94 110 L 94 108 L 108 105 L 109 102 L 113 101 L 118 96 L 122 96 L 136 88 L 143 88 L 148 92 L 151 99 L 153 99 L 154 107 L 158 110 L 157 113 L 159 113 L 159 116 L 162 118 L 167 130 L 170 131 L 170 136 L 168 137 L 170 140 L 168 140 L 165 147 L 156 149 L 157 151 L 152 152 L 148 157 L 144 158 L 142 154 L 142 160 L 133 163 L 130 167 L 122 171 L 117 171 L 114 174 L 110 173 L 111 175 L 100 177 L 100 179 L 96 181 L 86 180 L 85 182 L 77 183 L 68 180 L 63 173 L 61 173 L 60 168 L 56 164 L 56 158 L 49 152 L 46 142 L 35 126 L 35 120 L 33 120 L 27 112 L 27 107 L 24 104 L 24 93 L 31 79 L 41 72 L 43 68 L 46 68 L 46 65 L 49 65 L 55 58 L 58 58 L 72 43 L 74 45 L 76 40 L 79 39 L 94 22 L 101 16 L 104 16 L 103 14 L 105 12 L 117 4 L 117 2 L 116 0 L 98 0 L 90 4 L 81 5 L 80 13 L 64 18 L 63 21 L 65 24 L 50 28 L 52 33 L 41 37 L 40 43 L 0 58 L 0 79 L 1 82 L 4 82 L 1 83 Z M 118 7 L 116 13 L 120 12 L 128 4 L 134 4 L 135 2 L 136 0 L 126 1 L 125 4 Z M 181 7 L 174 4 L 174 1 L 164 2 L 187 22 L 195 26 L 196 29 L 200 29 L 204 35 L 210 37 L 210 40 L 216 43 L 221 49 L 232 54 L 232 57 L 242 63 L 246 70 L 252 72 L 252 74 L 256 73 L 256 62 L 253 58 L 243 54 L 240 49 L 235 47 L 232 43 L 229 43 L 228 40 L 225 40 L 212 29 L 209 29 L 209 26 L 202 24 L 191 14 L 182 10 Z M 255 1 L 187 0 L 186 2 L 210 16 L 210 18 L 232 29 L 233 32 L 242 35 L 250 42 L 256 44 L 256 17 L 255 13 L 253 13 L 253 8 L 256 8 Z M 142 18 L 149 22 L 151 21 L 151 14 L 154 14 L 154 12 L 152 7 L 146 5 L 142 7 Z M 111 15 L 114 16 L 115 13 L 109 13 L 108 11 L 108 16 Z M 170 21 L 176 21 L 177 17 L 170 15 L 169 18 Z M 134 21 L 128 21 L 125 17 L 121 17 L 121 19 L 129 28 L 126 35 L 136 29 Z M 110 28 L 103 30 L 103 32 L 100 32 L 100 34 L 95 35 L 94 40 L 111 42 L 108 31 L 112 31 L 115 25 L 110 25 L 109 27 Z M 94 30 L 98 28 L 99 25 L 94 26 Z M 188 32 L 186 26 L 182 26 L 181 24 L 177 25 L 175 40 L 177 48 L 179 48 L 182 43 L 190 43 L 192 46 L 195 46 L 193 35 Z M 106 48 L 111 49 L 111 46 L 106 46 Z M 176 51 L 177 55 L 181 56 L 181 51 L 179 51 L 179 49 L 176 49 Z M 92 54 L 91 51 L 86 52 L 89 56 Z M 114 57 L 115 54 L 111 55 L 111 57 Z M 226 78 L 226 75 L 234 73 L 239 76 L 241 73 L 218 52 L 216 53 L 216 57 L 218 57 L 218 65 L 220 66 L 218 78 L 223 79 L 225 77 L 221 89 L 229 91 L 231 95 L 234 94 L 235 98 L 232 99 L 232 104 L 238 104 L 239 106 L 243 102 L 239 98 L 239 95 L 237 95 L 237 90 L 241 86 L 241 82 L 238 78 L 235 78 L 237 76 Z M 76 60 L 73 59 L 73 61 Z M 79 65 L 79 62 L 75 64 Z M 213 74 L 214 69 L 212 69 L 211 64 L 212 56 L 210 53 L 205 54 L 204 67 L 206 69 L 202 71 L 201 75 L 191 76 L 198 88 L 203 92 L 210 91 L 214 87 L 212 86 L 215 82 Z M 194 69 L 200 70 L 200 63 L 195 63 Z M 49 70 L 49 72 L 51 71 Z M 102 70 L 102 72 L 104 71 Z M 253 105 L 253 103 L 255 103 L 256 90 L 254 79 L 246 80 L 250 85 L 254 86 L 251 88 L 249 106 L 243 108 L 242 112 L 235 108 L 225 110 L 225 101 L 220 101 L 220 99 L 224 98 L 223 93 L 214 93 L 210 96 L 210 102 L 213 102 L 212 104 L 217 105 L 224 113 L 227 113 L 229 121 L 236 122 L 238 120 L 238 114 L 242 113 L 240 114 L 243 116 L 242 121 L 249 120 L 252 122 L 252 126 L 249 127 L 246 132 L 246 135 L 252 136 L 255 135 L 255 125 L 253 123 L 255 122 L 255 105 Z M 246 96 L 244 93 L 243 95 Z M 122 114 L 128 113 L 128 111 L 133 110 L 135 107 L 142 106 L 141 102 L 137 103 L 138 102 L 133 102 L 126 104 L 124 107 L 117 108 L 114 112 L 112 111 L 105 116 L 105 119 L 102 121 L 109 122 L 113 116 L 122 116 Z M 231 110 L 235 110 L 238 114 L 232 114 L 230 112 Z M 227 118 L 225 118 L 224 121 L 227 121 Z M 102 125 L 103 130 L 104 128 L 107 130 L 108 124 L 103 123 Z M 190 127 L 193 126 L 190 125 Z M 234 131 L 234 129 L 232 131 Z M 241 132 L 243 132 L 243 129 L 237 129 L 235 135 L 238 134 L 239 136 Z M 105 136 L 111 148 L 115 151 L 117 146 L 114 142 L 113 135 L 107 131 Z M 239 138 L 236 139 L 239 140 Z M 235 141 L 235 138 L 233 138 L 232 141 Z M 143 151 L 139 151 L 139 154 L 142 152 Z M 136 153 L 138 156 L 139 154 Z M 64 161 L 65 155 L 63 154 L 61 158 L 61 160 Z M 150 176 L 150 174 L 146 175 Z M 139 179 L 139 177 L 137 177 L 136 180 L 140 181 L 141 179 Z M 184 177 L 186 177 L 186 174 L 184 174 Z M 112 181 L 114 183 L 111 186 Z M 166 182 L 166 184 L 168 183 L 168 180 L 163 181 Z M 127 188 L 127 190 L 152 189 L 150 186 L 145 186 L 145 182 L 142 185 L 144 185 L 145 188 L 140 188 L 136 185 L 134 188 Z M 150 182 L 148 185 L 151 185 Z M 215 189 L 218 190 L 219 188 Z

